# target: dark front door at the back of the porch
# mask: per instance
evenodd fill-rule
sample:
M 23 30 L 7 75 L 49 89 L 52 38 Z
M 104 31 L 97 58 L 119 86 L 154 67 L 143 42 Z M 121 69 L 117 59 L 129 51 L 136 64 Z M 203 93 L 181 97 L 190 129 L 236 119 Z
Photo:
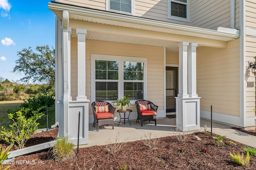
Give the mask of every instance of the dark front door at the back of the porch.
M 166 67 L 166 112 L 176 111 L 178 94 L 178 67 Z

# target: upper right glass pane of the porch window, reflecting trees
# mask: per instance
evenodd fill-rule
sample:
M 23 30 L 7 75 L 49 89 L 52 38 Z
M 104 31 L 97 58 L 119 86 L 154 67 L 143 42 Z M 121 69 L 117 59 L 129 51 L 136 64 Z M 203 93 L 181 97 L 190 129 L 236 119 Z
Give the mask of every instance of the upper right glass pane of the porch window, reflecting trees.
M 124 80 L 144 80 L 144 63 L 125 61 Z

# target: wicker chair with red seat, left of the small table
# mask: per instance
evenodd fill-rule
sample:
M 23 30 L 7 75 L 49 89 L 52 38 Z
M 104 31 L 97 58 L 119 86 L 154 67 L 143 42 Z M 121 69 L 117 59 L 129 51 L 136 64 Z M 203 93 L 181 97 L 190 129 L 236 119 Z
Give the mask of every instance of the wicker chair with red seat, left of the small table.
M 101 102 L 103 103 L 104 101 L 99 101 L 98 103 L 101 103 Z M 93 110 L 93 116 L 94 116 L 92 127 L 95 127 L 96 125 L 96 130 L 99 131 L 99 126 L 112 125 L 112 129 L 114 129 L 114 113 L 116 108 L 113 107 L 110 103 L 105 102 L 105 105 L 108 106 L 108 112 L 96 113 L 95 104 L 97 104 L 97 102 L 92 103 L 92 110 Z

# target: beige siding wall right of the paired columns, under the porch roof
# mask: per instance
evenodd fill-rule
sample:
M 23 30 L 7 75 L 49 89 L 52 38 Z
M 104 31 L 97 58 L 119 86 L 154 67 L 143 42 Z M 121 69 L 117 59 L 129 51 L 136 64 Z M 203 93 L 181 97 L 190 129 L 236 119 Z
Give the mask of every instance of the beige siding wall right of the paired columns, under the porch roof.
M 239 39 L 228 48 L 197 48 L 197 93 L 200 109 L 240 115 Z

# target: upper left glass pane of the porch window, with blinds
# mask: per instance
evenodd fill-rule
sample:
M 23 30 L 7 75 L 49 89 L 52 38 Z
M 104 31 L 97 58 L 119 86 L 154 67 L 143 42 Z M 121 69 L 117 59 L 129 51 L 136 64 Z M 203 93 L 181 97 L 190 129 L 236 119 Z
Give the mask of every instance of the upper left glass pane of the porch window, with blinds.
M 118 61 L 95 61 L 96 80 L 118 80 Z

